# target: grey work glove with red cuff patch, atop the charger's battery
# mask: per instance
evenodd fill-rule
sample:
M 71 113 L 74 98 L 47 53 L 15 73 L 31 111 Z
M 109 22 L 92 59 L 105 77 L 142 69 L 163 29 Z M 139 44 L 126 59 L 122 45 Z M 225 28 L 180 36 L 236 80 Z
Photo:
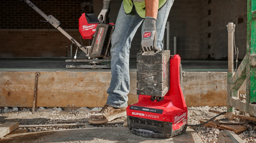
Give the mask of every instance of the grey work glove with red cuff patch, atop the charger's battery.
M 143 52 L 154 51 L 158 53 L 160 51 L 160 48 L 156 46 L 156 21 L 153 17 L 145 17 L 145 29 L 141 40 L 141 49 Z

